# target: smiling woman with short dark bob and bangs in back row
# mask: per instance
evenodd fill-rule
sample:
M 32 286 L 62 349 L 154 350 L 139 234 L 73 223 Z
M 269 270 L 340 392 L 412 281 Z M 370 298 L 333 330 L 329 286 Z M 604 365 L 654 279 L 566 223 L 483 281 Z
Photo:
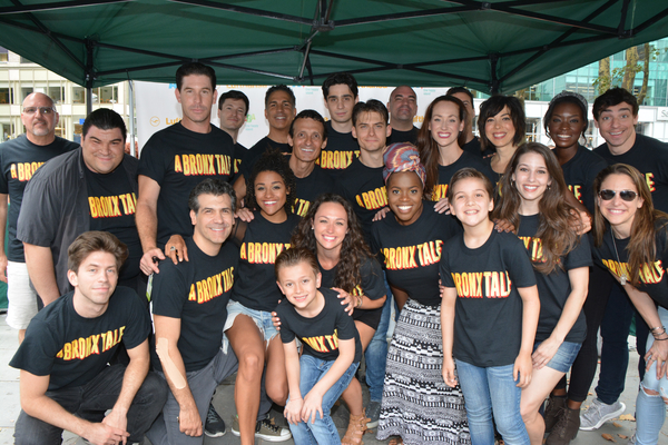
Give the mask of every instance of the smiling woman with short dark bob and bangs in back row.
M 522 102 L 512 96 L 492 96 L 480 105 L 478 129 L 482 148 L 494 151 L 483 160 L 494 172 L 492 182 L 497 186 L 510 158 L 524 140 L 527 117 Z

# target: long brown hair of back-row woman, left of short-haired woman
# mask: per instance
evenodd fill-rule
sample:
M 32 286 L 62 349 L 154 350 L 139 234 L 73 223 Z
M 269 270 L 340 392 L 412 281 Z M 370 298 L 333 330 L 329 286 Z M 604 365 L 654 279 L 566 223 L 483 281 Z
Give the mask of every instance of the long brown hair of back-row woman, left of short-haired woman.
M 418 151 L 420 151 L 420 159 L 426 169 L 426 181 L 424 182 L 424 192 L 431 195 L 434 190 L 436 184 L 439 184 L 439 158 L 441 156 L 439 151 L 439 145 L 432 138 L 431 130 L 429 129 L 429 123 L 434 113 L 434 108 L 440 102 L 452 102 L 459 108 L 459 118 L 460 121 L 466 122 L 466 107 L 464 103 L 455 98 L 454 96 L 440 96 L 435 98 L 429 107 L 426 107 L 426 111 L 424 112 L 424 120 L 422 123 L 422 128 L 418 132 Z M 464 127 L 465 128 L 465 127 Z M 456 138 L 456 144 L 460 148 L 466 144 L 466 135 L 464 131 L 460 131 L 459 137 Z

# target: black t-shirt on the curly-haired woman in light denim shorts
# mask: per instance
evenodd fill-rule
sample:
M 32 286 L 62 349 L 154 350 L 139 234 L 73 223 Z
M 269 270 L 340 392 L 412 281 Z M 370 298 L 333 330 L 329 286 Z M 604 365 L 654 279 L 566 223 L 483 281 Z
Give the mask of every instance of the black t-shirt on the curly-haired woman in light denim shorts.
M 239 271 L 232 299 L 249 309 L 272 312 L 282 298 L 274 263 L 283 250 L 289 249 L 289 238 L 301 218 L 287 214 L 285 221 L 274 224 L 259 211 L 253 215 L 242 240 Z

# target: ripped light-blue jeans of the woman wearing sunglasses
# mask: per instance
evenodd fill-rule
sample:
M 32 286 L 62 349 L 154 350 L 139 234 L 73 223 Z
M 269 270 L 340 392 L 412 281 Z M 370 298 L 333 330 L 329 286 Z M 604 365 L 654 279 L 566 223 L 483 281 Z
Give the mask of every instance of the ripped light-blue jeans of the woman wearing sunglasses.
M 661 325 L 668 326 L 668 310 L 659 307 L 659 317 Z M 654 336 L 647 336 L 647 349 L 654 344 Z M 649 395 L 645 390 L 654 390 L 658 395 Z M 659 442 L 659 434 L 666 419 L 666 404 L 664 398 L 668 398 L 668 379 L 666 376 L 657 380 L 657 364 L 645 373 L 645 378 L 640 383 L 640 390 L 636 399 L 636 444 L 656 445 Z

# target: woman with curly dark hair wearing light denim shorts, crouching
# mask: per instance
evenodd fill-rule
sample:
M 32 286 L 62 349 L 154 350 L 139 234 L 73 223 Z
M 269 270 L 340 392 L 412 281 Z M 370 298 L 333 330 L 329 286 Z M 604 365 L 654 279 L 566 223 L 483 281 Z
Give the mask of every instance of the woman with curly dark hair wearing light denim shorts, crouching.
M 246 206 L 253 210 L 253 220 L 237 219 L 233 233 L 240 243 L 239 265 L 224 328 L 239 360 L 234 392 L 238 425 L 235 422 L 232 432 L 242 436 L 242 444 L 254 444 L 256 433 L 274 441 L 291 437 L 287 429 L 266 419 L 271 403 L 261 406 L 261 385 L 266 365 L 266 395 L 277 405 L 285 405 L 285 356 L 272 324 L 272 310 L 282 296 L 274 261 L 289 247 L 299 222 L 299 217 L 291 211 L 295 177 L 284 155 L 276 150 L 265 152 L 255 164 L 248 185 Z

